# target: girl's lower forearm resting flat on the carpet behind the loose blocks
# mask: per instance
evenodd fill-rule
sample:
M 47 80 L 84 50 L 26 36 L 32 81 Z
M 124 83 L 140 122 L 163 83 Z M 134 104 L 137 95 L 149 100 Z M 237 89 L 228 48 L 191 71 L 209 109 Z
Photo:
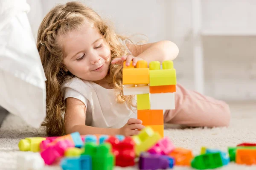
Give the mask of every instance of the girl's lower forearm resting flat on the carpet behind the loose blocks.
M 80 135 L 87 135 L 87 134 L 104 134 L 104 135 L 118 135 L 119 129 L 111 129 L 111 128 L 100 128 L 100 127 L 92 127 L 86 125 L 75 125 L 67 130 L 67 133 L 79 132 Z

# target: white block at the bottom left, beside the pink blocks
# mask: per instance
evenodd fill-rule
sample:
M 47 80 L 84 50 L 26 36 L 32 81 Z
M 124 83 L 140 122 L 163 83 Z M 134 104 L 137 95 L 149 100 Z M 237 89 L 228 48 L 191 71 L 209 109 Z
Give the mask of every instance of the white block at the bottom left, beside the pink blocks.
M 18 154 L 17 169 L 19 170 L 42 170 L 44 167 L 44 160 L 40 153 L 26 153 Z

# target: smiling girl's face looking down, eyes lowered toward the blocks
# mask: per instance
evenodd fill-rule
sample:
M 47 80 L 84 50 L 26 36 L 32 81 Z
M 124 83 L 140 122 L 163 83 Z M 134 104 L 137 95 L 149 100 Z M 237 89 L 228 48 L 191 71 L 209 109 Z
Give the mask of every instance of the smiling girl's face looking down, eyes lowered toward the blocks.
M 111 51 L 98 28 L 85 23 L 79 30 L 60 36 L 58 43 L 64 50 L 65 71 L 94 82 L 108 74 Z

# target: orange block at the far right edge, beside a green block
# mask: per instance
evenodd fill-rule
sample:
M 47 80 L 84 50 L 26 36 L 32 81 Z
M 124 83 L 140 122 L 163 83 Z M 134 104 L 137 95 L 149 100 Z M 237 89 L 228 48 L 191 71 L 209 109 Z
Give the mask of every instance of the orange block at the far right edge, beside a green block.
M 256 164 L 256 150 L 255 149 L 237 149 L 236 163 L 253 165 Z

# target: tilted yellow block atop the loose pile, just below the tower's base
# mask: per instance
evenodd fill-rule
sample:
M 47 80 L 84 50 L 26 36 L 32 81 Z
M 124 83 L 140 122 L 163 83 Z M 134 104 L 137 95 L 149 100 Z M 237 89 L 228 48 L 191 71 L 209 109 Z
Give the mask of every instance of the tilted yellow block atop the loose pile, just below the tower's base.
M 159 133 L 154 132 L 151 127 L 146 126 L 138 135 L 132 138 L 136 144 L 135 153 L 139 156 L 141 152 L 145 152 L 154 146 L 161 139 L 161 136 Z

